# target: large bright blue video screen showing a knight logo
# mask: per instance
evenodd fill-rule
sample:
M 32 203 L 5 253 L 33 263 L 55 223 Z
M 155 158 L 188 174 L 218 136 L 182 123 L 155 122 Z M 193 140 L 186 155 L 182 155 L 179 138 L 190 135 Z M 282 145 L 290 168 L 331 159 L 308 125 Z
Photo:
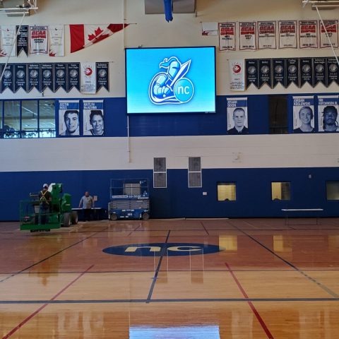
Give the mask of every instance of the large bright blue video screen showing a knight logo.
M 215 113 L 215 47 L 126 49 L 127 114 Z

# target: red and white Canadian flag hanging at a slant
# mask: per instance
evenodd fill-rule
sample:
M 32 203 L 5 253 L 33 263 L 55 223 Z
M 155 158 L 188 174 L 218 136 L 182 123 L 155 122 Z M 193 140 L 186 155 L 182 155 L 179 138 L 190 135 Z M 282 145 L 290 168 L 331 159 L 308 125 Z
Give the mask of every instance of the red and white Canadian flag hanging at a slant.
M 95 44 L 127 27 L 128 23 L 109 23 L 109 25 L 69 25 L 71 33 L 71 53 Z

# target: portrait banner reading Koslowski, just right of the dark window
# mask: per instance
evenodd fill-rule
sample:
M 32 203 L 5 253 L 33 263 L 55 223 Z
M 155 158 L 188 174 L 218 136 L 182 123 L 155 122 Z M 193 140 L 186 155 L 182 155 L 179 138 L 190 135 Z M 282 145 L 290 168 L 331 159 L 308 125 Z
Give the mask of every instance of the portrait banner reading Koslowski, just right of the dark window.
M 314 132 L 314 97 L 293 97 L 293 133 Z

